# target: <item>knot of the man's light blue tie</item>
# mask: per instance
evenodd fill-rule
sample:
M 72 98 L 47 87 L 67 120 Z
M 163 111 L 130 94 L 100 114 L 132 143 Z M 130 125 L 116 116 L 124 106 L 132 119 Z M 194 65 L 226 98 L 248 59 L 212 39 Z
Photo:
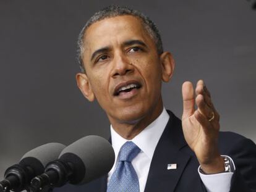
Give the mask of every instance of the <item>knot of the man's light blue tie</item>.
M 132 141 L 127 141 L 122 145 L 122 148 L 119 152 L 119 161 L 128 161 L 131 162 L 134 157 L 139 154 L 140 148 Z

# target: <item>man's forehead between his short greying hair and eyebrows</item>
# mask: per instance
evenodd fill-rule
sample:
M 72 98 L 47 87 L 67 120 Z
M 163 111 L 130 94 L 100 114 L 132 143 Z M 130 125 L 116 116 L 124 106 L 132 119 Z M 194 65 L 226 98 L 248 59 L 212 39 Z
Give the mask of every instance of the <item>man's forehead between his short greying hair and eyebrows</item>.
M 102 46 L 121 44 L 123 41 L 135 39 L 149 44 L 153 41 L 143 27 L 142 20 L 132 15 L 106 18 L 88 27 L 84 36 L 85 54 Z

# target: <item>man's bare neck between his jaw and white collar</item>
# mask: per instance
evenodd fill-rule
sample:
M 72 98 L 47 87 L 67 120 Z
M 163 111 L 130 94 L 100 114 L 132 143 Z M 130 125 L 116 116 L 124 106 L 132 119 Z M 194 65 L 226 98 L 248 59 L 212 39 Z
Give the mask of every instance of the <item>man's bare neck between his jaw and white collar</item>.
M 163 111 L 163 102 L 161 101 L 155 109 L 148 112 L 148 114 L 143 115 L 142 118 L 133 120 L 132 122 L 119 122 L 112 121 L 111 125 L 113 129 L 126 140 L 132 140 L 137 136 L 144 128 L 148 127 L 155 119 L 159 117 Z

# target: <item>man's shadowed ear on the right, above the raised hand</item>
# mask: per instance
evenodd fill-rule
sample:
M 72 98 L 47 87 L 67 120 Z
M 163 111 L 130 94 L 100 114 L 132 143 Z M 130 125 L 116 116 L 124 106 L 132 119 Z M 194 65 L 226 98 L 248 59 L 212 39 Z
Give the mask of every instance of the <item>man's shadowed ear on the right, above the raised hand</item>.
M 174 59 L 170 52 L 163 52 L 160 56 L 162 67 L 162 80 L 168 82 L 173 77 Z

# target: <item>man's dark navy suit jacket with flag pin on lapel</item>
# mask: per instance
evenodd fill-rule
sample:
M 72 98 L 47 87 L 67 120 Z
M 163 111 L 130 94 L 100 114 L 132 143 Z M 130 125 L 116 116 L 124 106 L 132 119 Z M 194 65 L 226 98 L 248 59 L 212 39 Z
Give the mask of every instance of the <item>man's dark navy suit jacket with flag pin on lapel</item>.
M 198 161 L 187 145 L 181 120 L 168 111 L 170 119 L 158 142 L 148 173 L 145 192 L 206 191 L 198 174 Z M 251 140 L 231 132 L 220 132 L 220 153 L 230 156 L 236 165 L 231 191 L 256 191 L 256 146 Z M 167 170 L 168 164 L 177 169 Z M 66 185 L 54 191 L 106 191 L 107 175 L 82 186 Z

